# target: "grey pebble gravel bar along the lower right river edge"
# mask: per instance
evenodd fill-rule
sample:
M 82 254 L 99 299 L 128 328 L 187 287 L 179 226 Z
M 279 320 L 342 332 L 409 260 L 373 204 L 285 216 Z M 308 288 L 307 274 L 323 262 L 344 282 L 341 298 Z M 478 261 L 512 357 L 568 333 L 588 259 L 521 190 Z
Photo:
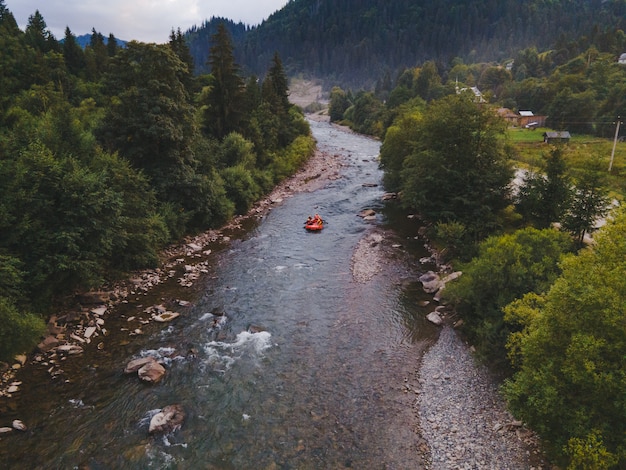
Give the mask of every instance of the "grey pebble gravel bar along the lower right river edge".
M 451 327 L 425 354 L 417 409 L 430 470 L 548 468 L 538 439 L 506 410 L 497 384 Z M 506 429 L 506 431 L 504 431 Z

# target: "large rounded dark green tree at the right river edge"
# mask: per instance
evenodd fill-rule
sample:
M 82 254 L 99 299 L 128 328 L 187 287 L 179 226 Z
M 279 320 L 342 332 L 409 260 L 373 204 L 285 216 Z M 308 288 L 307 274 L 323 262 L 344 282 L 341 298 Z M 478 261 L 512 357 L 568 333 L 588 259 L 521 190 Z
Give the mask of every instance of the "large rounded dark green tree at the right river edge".
M 429 223 L 460 222 L 473 239 L 483 238 L 509 204 L 503 122 L 461 94 L 432 102 L 416 124 L 401 175 L 403 204 Z

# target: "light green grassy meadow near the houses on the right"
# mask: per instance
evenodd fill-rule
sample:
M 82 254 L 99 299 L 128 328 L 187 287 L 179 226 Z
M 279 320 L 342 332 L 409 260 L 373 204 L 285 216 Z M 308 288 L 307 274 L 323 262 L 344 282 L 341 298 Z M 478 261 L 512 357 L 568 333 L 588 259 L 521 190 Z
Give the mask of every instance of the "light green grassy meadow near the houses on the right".
M 543 155 L 550 152 L 550 145 L 543 142 L 543 133 L 547 128 L 520 129 L 510 128 L 507 138 L 515 148 L 514 160 L 517 165 L 537 168 Z M 609 190 L 613 197 L 626 199 L 626 142 L 618 142 L 611 172 L 609 163 L 613 151 L 613 139 L 602 139 L 589 135 L 572 135 L 565 145 L 565 158 L 572 170 L 582 169 L 589 159 L 597 158 L 608 174 Z

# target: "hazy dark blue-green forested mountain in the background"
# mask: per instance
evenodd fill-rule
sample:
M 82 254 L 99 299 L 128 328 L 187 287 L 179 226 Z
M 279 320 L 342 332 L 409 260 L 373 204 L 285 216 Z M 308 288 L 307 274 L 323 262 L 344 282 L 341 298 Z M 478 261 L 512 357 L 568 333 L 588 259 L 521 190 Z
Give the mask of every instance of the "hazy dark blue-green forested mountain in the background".
M 288 74 L 361 86 L 426 60 L 502 60 L 527 47 L 624 29 L 625 17 L 624 0 L 292 0 L 257 27 L 229 22 L 228 29 L 250 73 L 262 75 L 277 51 Z M 207 38 L 222 21 L 187 33 L 201 70 Z

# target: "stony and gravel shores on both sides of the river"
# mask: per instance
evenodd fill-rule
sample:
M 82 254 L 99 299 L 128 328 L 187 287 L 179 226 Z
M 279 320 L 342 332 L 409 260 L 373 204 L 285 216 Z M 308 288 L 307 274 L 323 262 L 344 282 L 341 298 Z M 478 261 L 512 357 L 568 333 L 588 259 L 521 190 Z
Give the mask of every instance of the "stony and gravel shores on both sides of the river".
M 50 375 L 55 377 L 63 360 L 71 361 L 70 355 L 81 354 L 81 350 L 87 348 L 99 348 L 105 342 L 107 328 L 113 323 L 109 319 L 116 315 L 121 304 L 135 302 L 140 296 L 157 291 L 159 285 L 171 278 L 176 278 L 183 288 L 192 288 L 207 272 L 206 259 L 211 251 L 228 246 L 230 237 L 246 219 L 262 218 L 290 195 L 313 191 L 341 178 L 343 165 L 337 155 L 316 152 L 300 172 L 277 187 L 248 214 L 236 217 L 220 230 L 190 237 L 170 247 L 163 254 L 164 261 L 158 269 L 134 273 L 125 282 L 81 296 L 81 308 L 60 312 L 50 322 L 48 346 L 52 347 L 48 352 L 22 356 L 5 373 L 2 393 L 7 397 L 16 395 L 21 387 L 28 386 L 21 383 L 20 367 L 48 367 Z M 387 256 L 386 243 L 385 234 L 374 229 L 358 244 L 352 258 L 352 272 L 357 282 L 367 282 L 380 272 Z M 187 300 L 179 299 L 161 308 L 147 306 L 138 312 L 133 326 L 125 333 L 129 337 L 141 334 L 143 322 L 159 321 L 158 318 L 168 316 L 168 311 L 184 308 L 185 302 Z M 445 322 L 450 318 L 444 317 Z M 131 323 L 128 319 L 128 324 Z M 421 360 L 415 359 L 415 374 L 397 387 L 416 396 L 413 410 L 410 405 L 406 408 L 408 413 L 415 414 L 420 424 L 417 432 L 427 444 L 415 457 L 416 462 L 423 459 L 426 468 L 547 468 L 536 439 L 506 412 L 495 381 L 474 362 L 470 347 L 450 326 L 442 327 L 438 341 Z M 0 426 L 5 424 L 0 422 Z M 18 427 L 21 424 L 17 422 Z M 5 429 L 9 429 L 8 426 Z M 417 465 L 416 468 L 423 467 Z

